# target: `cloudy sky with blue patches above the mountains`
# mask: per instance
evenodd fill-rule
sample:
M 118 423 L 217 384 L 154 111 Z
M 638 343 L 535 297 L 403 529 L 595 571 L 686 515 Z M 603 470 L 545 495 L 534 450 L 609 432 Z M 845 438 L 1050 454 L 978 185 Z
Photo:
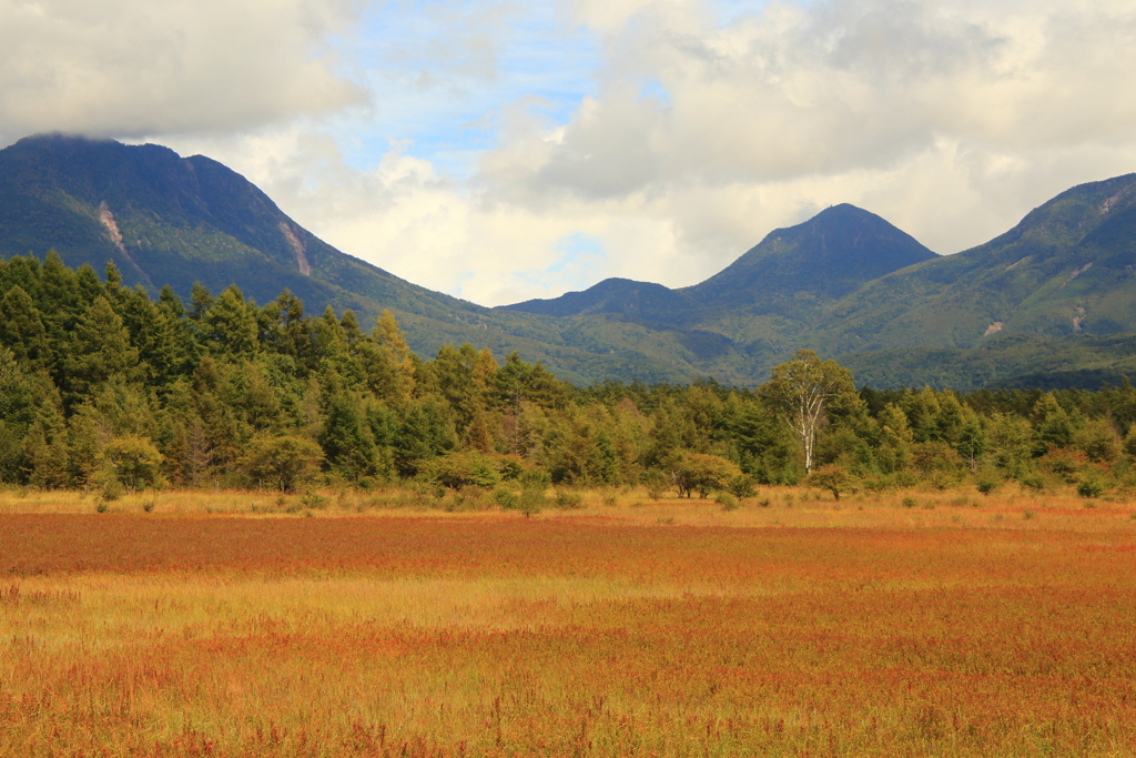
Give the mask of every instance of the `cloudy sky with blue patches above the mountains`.
M 220 160 L 495 306 L 851 202 L 941 255 L 1136 172 L 1136 0 L 0 0 L 0 145 Z

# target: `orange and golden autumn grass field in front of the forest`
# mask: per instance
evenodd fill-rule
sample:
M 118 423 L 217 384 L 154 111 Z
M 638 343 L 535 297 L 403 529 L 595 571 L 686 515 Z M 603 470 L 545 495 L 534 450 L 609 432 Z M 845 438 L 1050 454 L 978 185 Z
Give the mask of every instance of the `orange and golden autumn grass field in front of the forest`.
M 1136 755 L 1131 503 L 400 498 L 0 493 L 0 755 Z

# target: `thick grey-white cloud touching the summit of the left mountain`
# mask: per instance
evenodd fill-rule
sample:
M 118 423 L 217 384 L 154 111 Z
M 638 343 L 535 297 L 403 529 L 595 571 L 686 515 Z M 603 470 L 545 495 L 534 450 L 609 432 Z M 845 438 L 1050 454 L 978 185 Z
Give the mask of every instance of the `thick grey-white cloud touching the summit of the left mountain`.
M 227 133 L 365 100 L 354 0 L 0 0 L 0 138 Z

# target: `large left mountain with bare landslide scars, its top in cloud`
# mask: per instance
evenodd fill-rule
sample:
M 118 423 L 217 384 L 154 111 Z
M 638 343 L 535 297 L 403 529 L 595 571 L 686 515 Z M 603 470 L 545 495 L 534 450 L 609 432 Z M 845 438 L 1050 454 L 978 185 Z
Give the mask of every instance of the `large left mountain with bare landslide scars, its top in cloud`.
M 499 356 L 516 350 L 576 382 L 698 375 L 680 350 L 660 358 L 587 339 L 580 347 L 558 319 L 495 311 L 406 282 L 323 242 L 222 164 L 159 145 L 40 135 L 0 150 L 0 257 L 42 258 L 49 249 L 98 272 L 112 261 L 127 284 L 151 294 L 162 284 L 184 298 L 195 281 L 215 292 L 235 283 L 264 303 L 286 288 L 309 311 L 351 308 L 364 324 L 390 308 L 426 356 L 471 342 Z

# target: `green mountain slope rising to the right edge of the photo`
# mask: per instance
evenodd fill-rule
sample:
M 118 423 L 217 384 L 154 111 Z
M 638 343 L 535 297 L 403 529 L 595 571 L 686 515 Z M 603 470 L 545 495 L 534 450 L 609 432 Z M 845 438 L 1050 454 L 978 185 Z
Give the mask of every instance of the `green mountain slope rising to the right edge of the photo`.
M 871 282 L 828 310 L 834 352 L 1136 332 L 1136 175 L 1061 193 L 1005 234 Z

